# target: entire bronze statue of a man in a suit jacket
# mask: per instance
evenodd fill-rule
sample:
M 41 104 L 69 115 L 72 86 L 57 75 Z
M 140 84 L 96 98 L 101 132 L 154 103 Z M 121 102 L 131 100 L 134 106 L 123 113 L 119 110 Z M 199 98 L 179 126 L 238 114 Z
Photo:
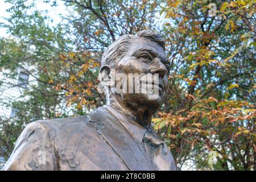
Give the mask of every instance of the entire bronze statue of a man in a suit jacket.
M 101 82 L 110 80 L 113 69 L 126 76 L 158 75 L 158 82 L 146 81 L 154 84 L 158 97 L 108 92 L 111 86 L 102 84 L 106 105 L 76 118 L 30 123 L 3 170 L 176 170 L 170 150 L 151 128 L 168 86 L 163 38 L 150 30 L 121 36 L 102 56 Z

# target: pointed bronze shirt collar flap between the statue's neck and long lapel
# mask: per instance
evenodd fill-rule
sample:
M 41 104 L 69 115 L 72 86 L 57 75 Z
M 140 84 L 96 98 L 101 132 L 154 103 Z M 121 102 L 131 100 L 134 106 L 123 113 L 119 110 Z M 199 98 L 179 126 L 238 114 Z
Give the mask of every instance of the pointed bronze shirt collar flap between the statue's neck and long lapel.
M 128 133 L 130 133 L 130 135 L 136 140 L 136 142 L 142 143 L 143 137 L 147 132 L 147 129 L 133 121 L 133 119 L 127 117 L 126 115 L 123 115 L 117 109 L 114 109 L 114 107 L 110 105 L 104 105 L 103 107 L 113 114 L 118 122 L 120 122 L 121 125 L 125 127 L 125 129 L 128 131 Z

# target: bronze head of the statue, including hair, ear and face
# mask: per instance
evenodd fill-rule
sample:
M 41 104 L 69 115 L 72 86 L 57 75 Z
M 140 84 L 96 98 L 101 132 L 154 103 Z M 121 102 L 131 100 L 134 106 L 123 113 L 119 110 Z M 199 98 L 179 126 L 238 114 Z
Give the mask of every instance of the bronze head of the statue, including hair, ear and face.
M 102 56 L 99 77 L 107 104 L 115 98 L 126 107 L 156 110 L 166 95 L 169 71 L 162 36 L 143 30 L 110 44 Z

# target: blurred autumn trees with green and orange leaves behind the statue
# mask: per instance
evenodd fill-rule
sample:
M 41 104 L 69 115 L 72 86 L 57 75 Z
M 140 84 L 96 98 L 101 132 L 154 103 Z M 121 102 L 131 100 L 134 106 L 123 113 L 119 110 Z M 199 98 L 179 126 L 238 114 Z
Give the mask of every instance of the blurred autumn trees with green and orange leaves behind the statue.
M 183 170 L 255 170 L 256 1 L 0 1 L 0 167 L 24 127 L 104 105 L 105 48 L 166 40 L 168 97 L 152 123 Z

